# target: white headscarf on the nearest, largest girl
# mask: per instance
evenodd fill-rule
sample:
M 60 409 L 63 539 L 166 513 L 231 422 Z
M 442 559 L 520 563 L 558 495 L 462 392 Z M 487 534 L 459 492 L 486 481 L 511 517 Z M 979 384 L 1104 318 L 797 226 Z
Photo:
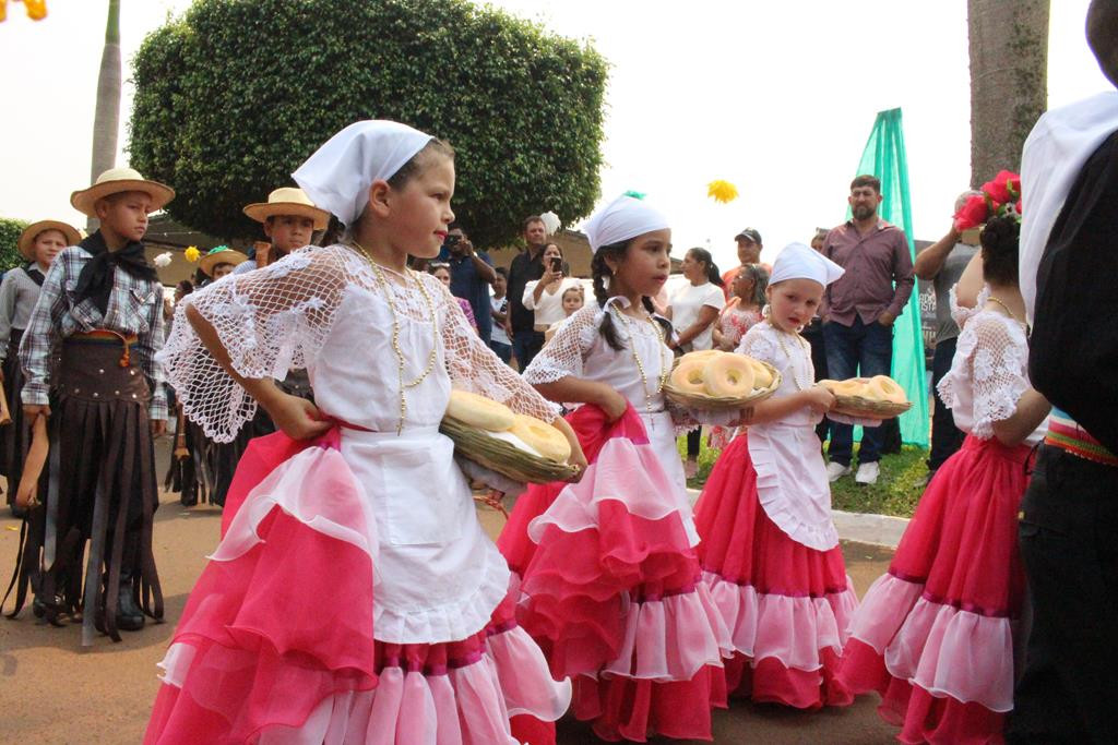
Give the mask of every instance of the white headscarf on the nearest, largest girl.
M 292 176 L 315 206 L 352 226 L 373 181 L 388 180 L 434 137 L 386 120 L 356 122 L 332 136 Z

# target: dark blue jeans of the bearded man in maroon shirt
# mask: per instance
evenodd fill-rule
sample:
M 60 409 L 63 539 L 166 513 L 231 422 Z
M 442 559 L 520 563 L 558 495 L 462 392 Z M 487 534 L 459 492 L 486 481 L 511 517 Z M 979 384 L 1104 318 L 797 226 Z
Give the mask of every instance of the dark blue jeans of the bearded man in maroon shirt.
M 843 326 L 834 321 L 823 324 L 823 342 L 827 352 L 827 374 L 832 380 L 846 380 L 861 375 L 888 375 L 893 360 L 893 327 L 882 326 L 873 321 L 862 323 L 854 316 L 854 323 Z M 862 430 L 862 449 L 858 462 L 872 464 L 881 460 L 884 442 L 881 427 Z M 850 424 L 831 422 L 831 462 L 850 466 L 854 452 L 854 428 Z

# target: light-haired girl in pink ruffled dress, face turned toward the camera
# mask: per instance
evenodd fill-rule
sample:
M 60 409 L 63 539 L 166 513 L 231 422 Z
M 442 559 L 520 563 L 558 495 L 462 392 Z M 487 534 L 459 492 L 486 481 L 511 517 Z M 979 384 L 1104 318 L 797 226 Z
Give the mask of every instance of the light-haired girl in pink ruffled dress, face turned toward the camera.
M 727 687 L 805 709 L 852 700 L 833 676 L 858 600 L 815 437 L 834 397 L 815 385 L 811 348 L 798 333 L 842 273 L 800 243 L 777 257 L 767 318 L 738 352 L 771 364 L 781 382 L 722 451 L 695 505 L 703 582 L 733 643 Z

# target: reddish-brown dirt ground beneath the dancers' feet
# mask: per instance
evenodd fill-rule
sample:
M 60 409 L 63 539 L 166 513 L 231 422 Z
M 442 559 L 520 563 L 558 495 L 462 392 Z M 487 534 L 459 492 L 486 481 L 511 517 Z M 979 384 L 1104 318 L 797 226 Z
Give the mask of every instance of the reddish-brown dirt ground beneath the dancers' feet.
M 480 509 L 486 531 L 496 535 L 503 518 L 487 508 Z M 7 586 L 19 523 L 6 507 L 2 515 L 0 577 Z M 216 508 L 187 509 L 179 505 L 178 495 L 163 495 L 155 516 L 154 547 L 167 622 L 149 624 L 135 633 L 122 632 L 124 640 L 119 644 L 100 637 L 82 651 L 79 625 L 42 625 L 29 608 L 13 621 L 0 619 L 0 741 L 26 745 L 139 743 L 159 686 L 155 663 L 162 659 L 206 555 L 217 543 L 220 522 Z M 884 572 L 891 555 L 853 543 L 844 544 L 843 552 L 859 595 Z M 892 743 L 893 729 L 878 718 L 875 705 L 875 697 L 869 696 L 844 709 L 800 713 L 737 701 L 728 710 L 714 713 L 714 742 Z M 558 732 L 560 743 L 597 742 L 587 726 L 570 716 L 560 720 Z

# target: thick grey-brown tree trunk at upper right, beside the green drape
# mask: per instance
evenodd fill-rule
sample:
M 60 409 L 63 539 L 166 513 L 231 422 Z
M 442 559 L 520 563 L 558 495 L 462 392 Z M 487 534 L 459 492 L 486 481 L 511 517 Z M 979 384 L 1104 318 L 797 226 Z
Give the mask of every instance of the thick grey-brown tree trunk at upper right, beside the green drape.
M 967 0 L 970 185 L 1021 170 L 1021 147 L 1048 108 L 1049 0 Z

